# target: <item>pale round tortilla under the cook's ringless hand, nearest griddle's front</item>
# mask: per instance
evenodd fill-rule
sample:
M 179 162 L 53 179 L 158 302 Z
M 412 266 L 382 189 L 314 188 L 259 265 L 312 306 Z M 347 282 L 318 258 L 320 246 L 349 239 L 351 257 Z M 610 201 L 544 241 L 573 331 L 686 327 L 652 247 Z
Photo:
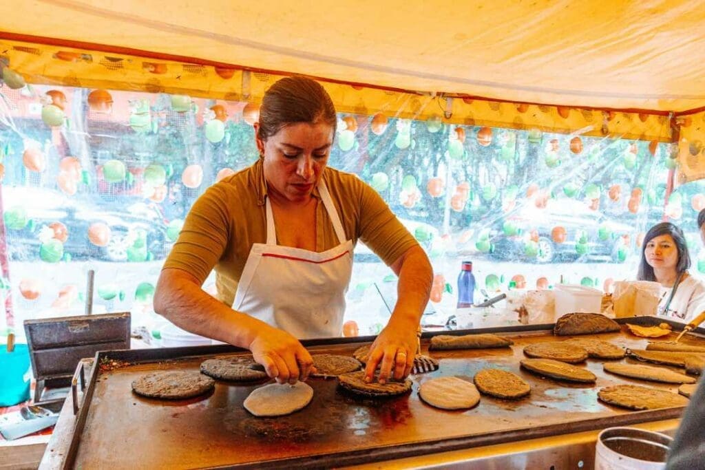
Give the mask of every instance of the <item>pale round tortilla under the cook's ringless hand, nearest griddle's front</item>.
M 245 398 L 243 406 L 255 416 L 284 416 L 298 412 L 309 404 L 312 398 L 313 389 L 307 383 L 270 383 L 252 390 Z

